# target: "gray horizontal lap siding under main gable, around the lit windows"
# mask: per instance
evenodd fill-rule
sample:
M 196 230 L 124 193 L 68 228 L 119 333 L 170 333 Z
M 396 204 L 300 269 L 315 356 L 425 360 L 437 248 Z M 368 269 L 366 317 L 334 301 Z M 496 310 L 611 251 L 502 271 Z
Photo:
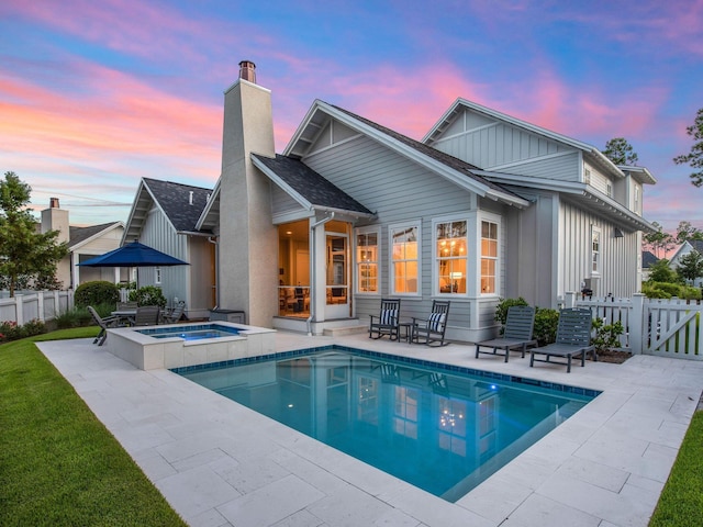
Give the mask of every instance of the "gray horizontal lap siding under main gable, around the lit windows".
M 426 317 L 432 306 L 434 284 L 433 270 L 433 220 L 469 218 L 476 215 L 476 195 L 457 188 L 456 184 L 412 162 L 408 158 L 389 150 L 375 141 L 358 136 L 341 144 L 310 154 L 303 161 L 313 170 L 353 195 L 356 200 L 377 213 L 380 225 L 381 282 L 379 295 L 357 294 L 356 315 L 366 319 L 378 315 L 379 299 L 390 291 L 389 284 L 389 225 L 420 225 L 421 227 L 421 296 L 403 298 L 401 311 L 404 317 Z M 487 202 L 488 203 L 488 202 Z M 503 214 L 503 206 L 490 202 L 492 212 Z M 502 228 L 505 228 L 503 223 Z M 501 236 L 501 251 L 504 253 L 504 235 Z M 501 284 L 505 283 L 501 269 Z M 478 335 L 478 328 L 469 332 L 471 310 L 480 305 L 476 321 L 494 328 L 494 299 L 450 298 L 451 309 L 447 335 L 451 338 L 470 339 Z

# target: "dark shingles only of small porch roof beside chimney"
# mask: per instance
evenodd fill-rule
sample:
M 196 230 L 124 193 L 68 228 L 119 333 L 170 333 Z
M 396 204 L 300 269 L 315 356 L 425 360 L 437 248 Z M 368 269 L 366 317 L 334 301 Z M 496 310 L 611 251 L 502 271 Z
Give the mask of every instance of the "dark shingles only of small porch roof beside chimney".
M 276 155 L 276 158 L 253 154 L 268 169 L 312 205 L 342 211 L 372 214 L 366 206 L 327 181 L 300 159 Z

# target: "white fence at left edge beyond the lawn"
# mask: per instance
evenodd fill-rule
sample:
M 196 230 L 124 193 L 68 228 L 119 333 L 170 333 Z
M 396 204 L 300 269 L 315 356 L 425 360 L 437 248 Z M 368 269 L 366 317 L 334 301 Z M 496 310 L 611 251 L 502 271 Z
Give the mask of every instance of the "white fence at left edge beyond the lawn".
M 33 319 L 51 321 L 74 307 L 72 291 L 36 291 L 0 299 L 0 322 L 16 322 L 19 326 Z

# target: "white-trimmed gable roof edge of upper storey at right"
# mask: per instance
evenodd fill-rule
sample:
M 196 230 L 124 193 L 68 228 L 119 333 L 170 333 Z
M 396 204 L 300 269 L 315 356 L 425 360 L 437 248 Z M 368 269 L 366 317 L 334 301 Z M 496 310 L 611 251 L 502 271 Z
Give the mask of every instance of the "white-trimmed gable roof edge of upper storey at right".
M 492 110 L 488 106 L 483 106 L 477 102 L 469 101 L 467 99 L 458 98 L 454 104 L 445 112 L 445 114 L 437 121 L 437 123 L 427 132 L 427 134 L 423 137 L 422 142 L 432 146 L 435 141 L 437 141 L 443 132 L 454 123 L 456 117 L 461 113 L 462 109 L 469 109 L 476 113 L 487 115 L 491 119 L 503 121 L 505 123 L 511 124 L 512 126 L 516 126 L 518 128 L 525 130 L 526 132 L 531 132 L 536 135 L 540 135 L 551 141 L 556 141 L 563 145 L 576 148 L 577 150 L 585 154 L 591 162 L 599 165 L 602 169 L 606 170 L 609 173 L 623 178 L 625 175 L 621 170 L 621 167 L 617 167 L 613 161 L 611 161 L 601 150 L 599 150 L 593 145 L 589 145 L 579 139 L 574 139 L 573 137 L 569 137 L 563 134 L 559 134 L 557 132 L 553 132 L 547 128 L 543 128 L 542 126 L 537 126 L 536 124 L 528 123 L 517 117 L 513 117 L 512 115 L 507 115 L 506 113 L 499 112 L 496 110 Z M 633 167 L 635 168 L 635 167 Z M 646 169 L 645 169 L 646 171 Z M 649 173 L 649 171 L 637 173 L 637 177 L 641 178 L 640 182 L 645 183 L 655 183 L 656 180 Z

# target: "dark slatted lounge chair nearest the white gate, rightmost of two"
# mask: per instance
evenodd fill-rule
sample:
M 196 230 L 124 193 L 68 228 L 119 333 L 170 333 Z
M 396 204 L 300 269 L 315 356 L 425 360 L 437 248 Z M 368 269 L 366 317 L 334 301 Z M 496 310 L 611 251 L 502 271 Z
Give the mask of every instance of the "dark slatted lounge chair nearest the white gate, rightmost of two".
M 567 373 L 571 371 L 571 358 L 580 357 L 581 366 L 585 366 L 585 356 L 591 352 L 594 361 L 598 360 L 595 346 L 591 345 L 591 310 L 568 307 L 559 312 L 557 325 L 557 340 L 542 348 L 532 348 L 529 366 L 535 362 L 551 362 L 551 357 L 566 358 Z M 544 355 L 540 359 L 537 356 Z

